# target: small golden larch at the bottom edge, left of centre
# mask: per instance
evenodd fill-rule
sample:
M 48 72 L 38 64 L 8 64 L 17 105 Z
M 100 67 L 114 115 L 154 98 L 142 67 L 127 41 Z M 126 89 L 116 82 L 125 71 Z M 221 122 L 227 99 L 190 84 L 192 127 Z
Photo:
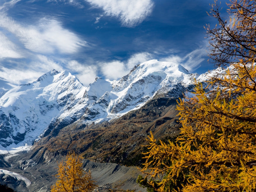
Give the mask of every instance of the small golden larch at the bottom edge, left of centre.
M 51 192 L 92 192 L 97 185 L 92 180 L 91 172 L 85 172 L 82 168 L 82 158 L 69 153 L 66 161 L 59 164 L 58 179 L 51 187 Z

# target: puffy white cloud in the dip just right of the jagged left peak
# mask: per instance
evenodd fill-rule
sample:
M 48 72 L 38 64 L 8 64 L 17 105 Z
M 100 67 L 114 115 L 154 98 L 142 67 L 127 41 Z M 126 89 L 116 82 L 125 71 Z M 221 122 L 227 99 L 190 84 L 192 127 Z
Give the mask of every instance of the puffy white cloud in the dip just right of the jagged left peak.
M 85 86 L 93 83 L 97 77 L 97 67 L 82 65 L 76 60 L 68 62 L 66 66 L 70 73 L 75 73 L 74 75 L 79 79 L 81 83 Z

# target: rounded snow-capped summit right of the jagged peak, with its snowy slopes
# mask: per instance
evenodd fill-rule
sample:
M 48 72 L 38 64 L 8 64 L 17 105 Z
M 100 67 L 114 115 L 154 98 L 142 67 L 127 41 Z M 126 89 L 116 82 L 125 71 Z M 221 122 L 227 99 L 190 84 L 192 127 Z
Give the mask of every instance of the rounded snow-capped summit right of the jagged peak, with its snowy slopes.
M 118 81 L 97 79 L 85 92 L 90 104 L 83 118 L 100 121 L 122 116 L 140 108 L 163 88 L 169 91 L 174 84 L 192 84 L 194 76 L 179 64 L 150 60 Z

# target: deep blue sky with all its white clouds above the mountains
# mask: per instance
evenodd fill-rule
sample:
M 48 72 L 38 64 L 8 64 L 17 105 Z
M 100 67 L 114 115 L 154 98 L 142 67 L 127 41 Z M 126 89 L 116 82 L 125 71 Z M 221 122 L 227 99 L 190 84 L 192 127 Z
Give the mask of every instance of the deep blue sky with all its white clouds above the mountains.
M 114 80 L 150 59 L 204 73 L 213 68 L 204 26 L 217 22 L 206 13 L 209 3 L 1 0 L 0 88 L 33 82 L 53 68 L 68 70 L 84 85 L 95 77 Z

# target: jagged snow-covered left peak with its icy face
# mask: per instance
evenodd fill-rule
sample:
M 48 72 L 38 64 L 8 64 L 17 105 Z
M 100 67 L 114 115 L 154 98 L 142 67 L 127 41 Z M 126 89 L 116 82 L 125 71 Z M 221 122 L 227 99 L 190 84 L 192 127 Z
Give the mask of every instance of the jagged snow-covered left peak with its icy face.
M 0 98 L 2 148 L 31 145 L 51 124 L 71 123 L 83 114 L 85 87 L 67 71 L 52 70 L 31 84 L 22 84 Z

